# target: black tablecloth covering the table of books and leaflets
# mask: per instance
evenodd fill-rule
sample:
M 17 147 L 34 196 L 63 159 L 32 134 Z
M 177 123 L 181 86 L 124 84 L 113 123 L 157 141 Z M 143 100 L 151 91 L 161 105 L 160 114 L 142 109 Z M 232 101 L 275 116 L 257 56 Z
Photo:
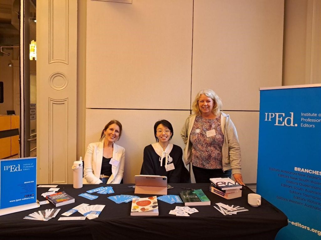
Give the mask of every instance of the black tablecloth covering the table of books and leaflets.
M 24 212 L 0 216 L 0 239 L 274 239 L 277 232 L 287 226 L 288 220 L 282 211 L 262 199 L 260 207 L 247 204 L 247 194 L 253 193 L 249 188 L 242 192 L 242 197 L 226 200 L 209 191 L 209 184 L 171 184 L 174 188 L 168 194 L 178 195 L 181 188 L 202 188 L 211 200 L 210 206 L 195 206 L 199 211 L 189 217 L 169 214 L 175 206 L 184 204 L 168 204 L 158 200 L 159 216 L 130 216 L 131 202 L 116 204 L 108 196 L 128 194 L 135 195 L 133 184 L 113 185 L 84 185 L 74 189 L 72 185 L 58 185 L 59 191 L 65 191 L 75 198 L 75 203 L 55 207 L 51 203 L 41 205 L 40 208 Z M 95 200 L 88 200 L 81 196 L 87 190 L 112 186 L 114 194 L 97 194 Z M 37 188 L 37 199 L 45 200 L 41 196 L 48 188 Z M 139 194 L 140 197 L 150 195 Z M 90 205 L 106 205 L 99 218 L 92 220 L 58 221 L 62 213 L 86 203 Z M 215 203 L 233 204 L 247 208 L 249 211 L 233 215 L 222 215 L 213 206 Z M 23 217 L 32 212 L 61 208 L 56 216 L 48 221 L 25 220 Z M 76 212 L 71 217 L 80 217 Z

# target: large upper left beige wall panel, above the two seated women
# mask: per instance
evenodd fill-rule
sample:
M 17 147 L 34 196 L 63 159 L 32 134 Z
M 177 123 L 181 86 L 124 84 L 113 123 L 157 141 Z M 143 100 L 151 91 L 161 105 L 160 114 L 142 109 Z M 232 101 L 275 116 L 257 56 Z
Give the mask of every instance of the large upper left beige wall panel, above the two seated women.
M 189 109 L 192 0 L 87 1 L 87 108 Z

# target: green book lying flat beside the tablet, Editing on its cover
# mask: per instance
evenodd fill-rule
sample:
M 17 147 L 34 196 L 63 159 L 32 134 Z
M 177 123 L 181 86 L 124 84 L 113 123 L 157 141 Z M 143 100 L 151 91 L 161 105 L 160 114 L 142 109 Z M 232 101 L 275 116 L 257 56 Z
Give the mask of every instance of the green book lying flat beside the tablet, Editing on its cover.
M 210 199 L 208 199 L 202 189 L 184 190 L 178 193 L 185 206 L 211 205 Z

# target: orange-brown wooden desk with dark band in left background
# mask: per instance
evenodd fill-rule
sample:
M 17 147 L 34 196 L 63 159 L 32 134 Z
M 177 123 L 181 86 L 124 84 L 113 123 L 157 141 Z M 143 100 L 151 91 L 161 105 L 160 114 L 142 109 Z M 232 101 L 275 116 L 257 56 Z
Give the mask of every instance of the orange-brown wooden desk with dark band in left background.
M 19 116 L 0 115 L 0 159 L 19 153 L 19 121 Z

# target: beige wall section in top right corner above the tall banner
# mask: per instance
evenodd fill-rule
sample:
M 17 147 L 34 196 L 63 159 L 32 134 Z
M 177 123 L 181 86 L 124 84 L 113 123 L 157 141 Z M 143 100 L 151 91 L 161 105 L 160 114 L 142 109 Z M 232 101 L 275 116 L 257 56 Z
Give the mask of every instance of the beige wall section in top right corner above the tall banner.
M 321 1 L 285 0 L 282 85 L 321 83 Z

